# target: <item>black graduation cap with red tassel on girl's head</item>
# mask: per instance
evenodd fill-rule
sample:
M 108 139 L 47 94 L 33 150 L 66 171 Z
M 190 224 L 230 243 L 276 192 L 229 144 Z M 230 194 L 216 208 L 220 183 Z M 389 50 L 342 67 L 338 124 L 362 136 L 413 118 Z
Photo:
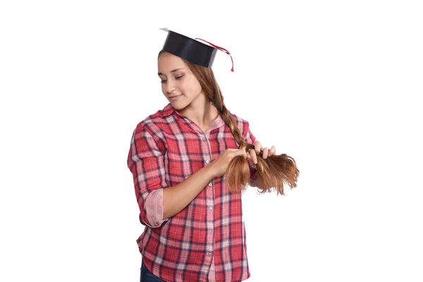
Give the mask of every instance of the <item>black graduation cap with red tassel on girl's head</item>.
M 195 63 L 200 66 L 205 66 L 206 68 L 212 68 L 214 57 L 216 56 L 217 50 L 224 51 L 226 54 L 231 56 L 228 50 L 222 47 L 216 46 L 215 44 L 212 44 L 210 42 L 207 42 L 204 39 L 201 39 L 201 38 L 192 39 L 190 37 L 186 37 L 185 35 L 180 35 L 177 32 L 168 30 L 167 28 L 161 28 L 161 30 L 168 32 L 162 51 L 166 51 L 170 54 L 173 54 L 182 59 L 185 59 L 191 63 Z M 204 44 L 200 41 L 197 41 L 197 39 L 207 42 L 208 44 L 212 46 Z M 231 61 L 232 61 L 231 71 L 233 71 L 232 56 L 231 56 Z

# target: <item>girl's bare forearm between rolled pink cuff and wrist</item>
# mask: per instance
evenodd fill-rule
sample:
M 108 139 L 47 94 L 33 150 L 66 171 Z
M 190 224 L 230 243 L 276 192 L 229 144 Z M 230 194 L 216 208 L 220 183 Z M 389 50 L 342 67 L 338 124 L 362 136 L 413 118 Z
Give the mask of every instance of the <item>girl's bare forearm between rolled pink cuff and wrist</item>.
M 163 190 L 163 218 L 168 219 L 184 209 L 204 187 L 214 178 L 211 166 L 204 166 L 183 182 L 164 188 Z

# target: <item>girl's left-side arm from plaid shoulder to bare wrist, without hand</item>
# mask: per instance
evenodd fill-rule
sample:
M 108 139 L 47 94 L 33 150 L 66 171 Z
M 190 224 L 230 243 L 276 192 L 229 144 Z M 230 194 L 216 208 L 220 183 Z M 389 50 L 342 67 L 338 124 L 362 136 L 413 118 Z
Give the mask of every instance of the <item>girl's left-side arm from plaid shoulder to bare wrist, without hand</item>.
M 184 209 L 214 178 L 214 171 L 204 166 L 178 185 L 168 187 L 164 152 L 164 142 L 139 124 L 131 140 L 128 167 L 133 173 L 140 222 L 152 228 Z

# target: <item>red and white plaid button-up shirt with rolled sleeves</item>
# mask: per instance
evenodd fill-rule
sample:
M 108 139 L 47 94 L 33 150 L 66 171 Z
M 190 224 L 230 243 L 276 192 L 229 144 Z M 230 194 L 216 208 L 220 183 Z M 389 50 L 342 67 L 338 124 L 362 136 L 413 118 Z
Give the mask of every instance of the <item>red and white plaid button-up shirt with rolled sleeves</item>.
M 231 113 L 230 113 L 231 114 Z M 249 123 L 231 114 L 245 141 L 255 143 Z M 209 130 L 169 103 L 138 123 L 130 142 L 128 168 L 144 232 L 137 239 L 142 259 L 164 281 L 243 281 L 250 277 L 241 195 L 216 177 L 187 207 L 163 219 L 163 190 L 207 166 L 238 142 L 218 116 Z M 250 185 L 257 171 L 250 165 Z

